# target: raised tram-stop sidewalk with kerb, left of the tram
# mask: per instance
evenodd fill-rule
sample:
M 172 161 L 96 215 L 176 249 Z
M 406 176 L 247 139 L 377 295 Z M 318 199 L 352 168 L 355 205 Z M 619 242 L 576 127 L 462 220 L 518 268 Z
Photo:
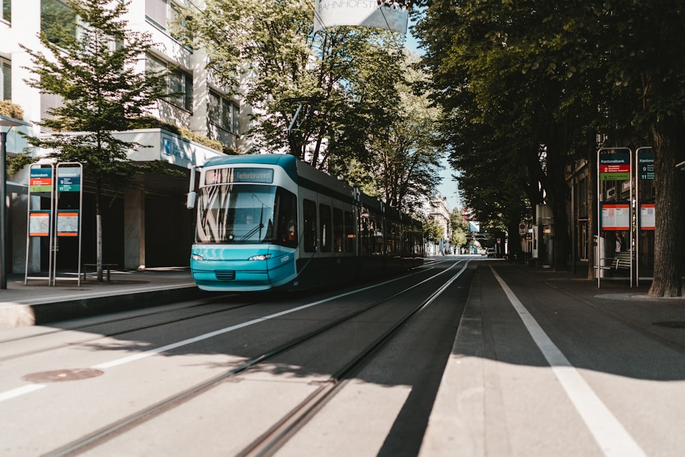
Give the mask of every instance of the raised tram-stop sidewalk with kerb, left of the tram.
M 36 275 L 38 276 L 38 275 Z M 142 308 L 171 299 L 200 297 L 200 291 L 182 267 L 145 270 L 112 270 L 110 281 L 97 282 L 93 273 L 79 286 L 76 273 L 59 273 L 55 286 L 45 280 L 28 280 L 23 274 L 8 276 L 0 291 L 0 329 L 85 317 L 104 312 Z

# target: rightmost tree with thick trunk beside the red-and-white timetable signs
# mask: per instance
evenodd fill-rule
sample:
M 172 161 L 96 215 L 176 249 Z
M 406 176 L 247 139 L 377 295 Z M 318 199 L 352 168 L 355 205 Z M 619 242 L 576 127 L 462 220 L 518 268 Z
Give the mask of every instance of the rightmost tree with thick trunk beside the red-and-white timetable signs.
M 598 51 L 606 62 L 606 100 L 617 109 L 616 94 L 627 98 L 629 122 L 644 133 L 654 151 L 656 230 L 654 280 L 649 295 L 685 295 L 685 10 L 674 0 L 656 3 L 604 3 L 597 13 L 603 25 Z M 625 94 L 628 97 L 625 97 Z M 625 110 L 624 110 L 625 111 Z M 636 135 L 638 136 L 638 135 Z

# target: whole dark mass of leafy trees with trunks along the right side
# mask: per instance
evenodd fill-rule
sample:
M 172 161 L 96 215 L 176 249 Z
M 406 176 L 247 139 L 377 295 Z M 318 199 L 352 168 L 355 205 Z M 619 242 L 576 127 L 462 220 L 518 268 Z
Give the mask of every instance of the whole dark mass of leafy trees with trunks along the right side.
M 501 186 L 501 179 L 485 179 L 493 169 L 469 158 L 484 160 L 489 150 L 511 173 L 525 167 L 530 203 L 541 197 L 537 188 L 552 207 L 560 269 L 568 247 L 566 166 L 579 157 L 593 162 L 590 151 L 599 146 L 649 143 L 658 189 L 650 293 L 682 295 L 685 242 L 677 233 L 685 222 L 685 173 L 675 169 L 685 159 L 680 2 L 420 3 L 425 14 L 416 32 L 434 99 L 453 120 L 445 125 L 445 146 L 464 175 L 476 175 L 462 182 L 467 199 L 475 203 L 478 186 Z M 599 145 L 598 135 L 605 138 Z M 521 196 L 520 187 L 511 189 L 507 205 Z

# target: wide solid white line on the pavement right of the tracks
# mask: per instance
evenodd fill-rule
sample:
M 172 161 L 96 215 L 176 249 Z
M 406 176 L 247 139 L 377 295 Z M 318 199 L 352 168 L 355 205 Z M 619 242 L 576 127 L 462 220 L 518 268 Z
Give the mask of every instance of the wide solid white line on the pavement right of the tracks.
M 623 428 L 623 425 L 612 414 L 609 408 L 597 397 L 597 394 L 578 373 L 577 369 L 571 365 L 569 359 L 564 356 L 562 351 L 551 341 L 549 336 L 540 327 L 540 324 L 532 317 L 530 312 L 523 306 L 521 301 L 514 295 L 506 282 L 495 272 L 493 267 L 490 270 L 495 275 L 495 279 L 506 293 L 509 301 L 516 312 L 519 313 L 523 325 L 533 337 L 536 345 L 542 351 L 543 356 L 561 383 L 566 395 L 571 399 L 571 403 L 580 413 L 585 425 L 590 433 L 593 434 L 597 444 L 605 456 L 646 456 L 643 449 L 636 443 L 632 436 Z

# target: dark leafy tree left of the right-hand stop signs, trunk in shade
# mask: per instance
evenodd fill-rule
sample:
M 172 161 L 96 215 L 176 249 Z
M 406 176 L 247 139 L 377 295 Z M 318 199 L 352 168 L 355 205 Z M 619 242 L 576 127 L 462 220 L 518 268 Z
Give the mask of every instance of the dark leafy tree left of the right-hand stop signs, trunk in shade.
M 463 120 L 447 126 L 456 133 L 445 138 L 459 140 L 452 146 L 455 159 L 496 156 L 495 161 L 506 162 L 508 173 L 490 181 L 493 193 L 501 193 L 503 182 L 516 182 L 521 174 L 516 169 L 522 169 L 527 180 L 512 189 L 511 199 L 499 196 L 499 201 L 520 201 L 522 187 L 530 199 L 526 203 L 538 203 L 544 195 L 559 227 L 566 227 L 564 170 L 577 148 L 585 149 L 585 128 L 597 113 L 588 97 L 593 73 L 578 58 L 586 54 L 574 8 L 573 2 L 534 0 L 486 0 L 454 8 L 452 1 L 438 0 L 419 27 L 429 43 L 425 62 L 437 76 L 436 98 Z M 507 171 L 501 164 L 499 170 Z M 477 185 L 486 186 L 483 180 Z M 512 217 L 521 203 L 515 206 L 506 211 Z M 512 221 L 506 225 L 514 226 Z M 556 232 L 554 243 L 554 266 L 566 269 L 565 230 Z

